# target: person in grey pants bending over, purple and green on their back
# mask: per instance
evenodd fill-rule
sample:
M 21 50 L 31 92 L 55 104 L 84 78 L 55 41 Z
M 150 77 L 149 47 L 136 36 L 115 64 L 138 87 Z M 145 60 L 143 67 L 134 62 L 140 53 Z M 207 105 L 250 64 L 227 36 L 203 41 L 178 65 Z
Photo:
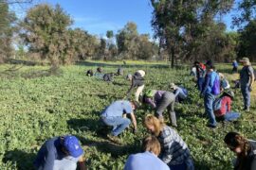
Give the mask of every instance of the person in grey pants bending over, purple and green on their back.
M 149 90 L 143 97 L 143 102 L 155 109 L 155 116 L 164 122 L 163 111 L 168 109 L 172 126 L 177 127 L 176 114 L 174 112 L 175 95 L 167 91 Z

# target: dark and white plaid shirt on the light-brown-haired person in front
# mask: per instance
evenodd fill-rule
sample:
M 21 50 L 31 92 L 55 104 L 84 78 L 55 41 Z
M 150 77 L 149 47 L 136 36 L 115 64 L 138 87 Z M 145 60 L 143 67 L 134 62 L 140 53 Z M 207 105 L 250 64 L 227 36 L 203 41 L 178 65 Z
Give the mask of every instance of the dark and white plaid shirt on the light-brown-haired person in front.
M 190 150 L 171 127 L 163 127 L 157 137 L 161 144 L 161 153 L 159 158 L 168 165 L 181 164 L 190 158 Z

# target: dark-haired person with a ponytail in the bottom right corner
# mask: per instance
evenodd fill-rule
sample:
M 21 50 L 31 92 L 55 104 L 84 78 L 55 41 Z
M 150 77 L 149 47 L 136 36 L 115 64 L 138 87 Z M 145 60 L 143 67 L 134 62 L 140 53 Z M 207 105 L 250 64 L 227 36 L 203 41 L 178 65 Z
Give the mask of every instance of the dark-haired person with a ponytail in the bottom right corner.
M 237 156 L 234 161 L 234 170 L 256 169 L 256 141 L 247 140 L 239 133 L 229 132 L 224 142 Z

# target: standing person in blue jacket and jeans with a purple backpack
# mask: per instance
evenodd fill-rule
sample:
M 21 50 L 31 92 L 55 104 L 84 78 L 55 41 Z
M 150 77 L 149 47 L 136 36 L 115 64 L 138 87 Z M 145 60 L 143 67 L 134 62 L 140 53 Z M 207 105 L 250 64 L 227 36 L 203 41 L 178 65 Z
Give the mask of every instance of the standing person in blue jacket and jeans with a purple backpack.
M 216 127 L 217 122 L 215 120 L 215 115 L 213 112 L 213 101 L 215 96 L 220 93 L 220 77 L 214 71 L 215 67 L 213 65 L 207 65 L 208 73 L 203 85 L 201 96 L 204 96 L 205 112 L 207 113 L 210 123 L 209 127 Z

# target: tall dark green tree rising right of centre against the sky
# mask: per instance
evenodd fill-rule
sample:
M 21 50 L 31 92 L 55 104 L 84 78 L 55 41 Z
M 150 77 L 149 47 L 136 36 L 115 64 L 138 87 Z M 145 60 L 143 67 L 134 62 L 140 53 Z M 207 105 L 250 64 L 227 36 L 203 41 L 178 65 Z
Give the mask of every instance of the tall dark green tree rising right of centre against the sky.
M 151 0 L 154 8 L 152 26 L 155 37 L 161 40 L 174 61 L 192 53 L 196 40 L 207 34 L 209 24 L 216 14 L 229 11 L 233 0 Z M 183 50 L 187 49 L 185 54 Z

